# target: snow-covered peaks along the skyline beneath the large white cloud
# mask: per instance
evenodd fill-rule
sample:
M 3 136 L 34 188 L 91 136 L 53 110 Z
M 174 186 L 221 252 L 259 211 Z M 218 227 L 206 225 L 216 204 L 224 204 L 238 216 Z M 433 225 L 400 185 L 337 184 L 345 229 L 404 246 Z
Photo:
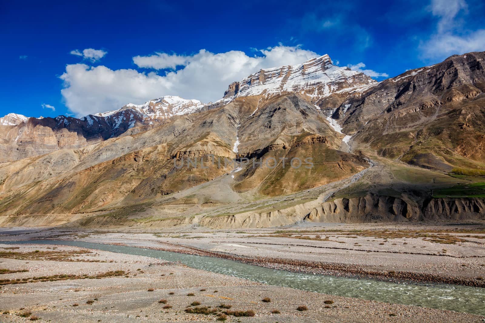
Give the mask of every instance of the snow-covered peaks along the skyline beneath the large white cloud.
M 241 81 L 231 83 L 229 89 L 224 93 L 224 97 L 216 103 L 225 105 L 237 97 L 259 94 L 276 95 L 280 92 L 299 92 L 311 97 L 312 102 L 318 103 L 318 100 L 332 93 L 362 92 L 376 84 L 378 82 L 371 77 L 352 71 L 348 67 L 336 66 L 328 55 L 323 55 L 301 64 L 261 69 Z M 117 110 L 87 115 L 79 119 L 58 116 L 55 120 L 56 126 L 64 127 L 71 123 L 84 124 L 85 122 L 85 127 L 92 129 L 101 124 L 112 130 L 118 129 L 122 124 L 122 128 L 129 129 L 137 122 L 151 125 L 154 124 L 154 121 L 199 112 L 210 105 L 211 103 L 206 105 L 199 100 L 165 95 L 141 105 L 129 103 Z M 318 106 L 316 108 L 320 109 Z M 0 118 L 0 124 L 16 125 L 27 120 L 28 118 L 23 115 L 9 113 Z

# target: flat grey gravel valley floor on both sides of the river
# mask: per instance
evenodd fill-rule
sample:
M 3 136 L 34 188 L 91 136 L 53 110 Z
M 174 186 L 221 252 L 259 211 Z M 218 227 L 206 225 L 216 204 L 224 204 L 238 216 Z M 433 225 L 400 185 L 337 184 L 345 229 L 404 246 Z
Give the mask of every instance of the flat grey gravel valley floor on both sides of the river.
M 372 317 L 373 322 L 480 322 L 483 316 L 269 286 L 143 256 L 74 246 L 1 244 L 84 241 L 216 256 L 296 272 L 484 287 L 485 223 L 473 222 L 303 223 L 243 230 L 190 226 L 157 232 L 2 228 L 0 321 L 368 322 Z M 265 297 L 271 301 L 262 301 Z M 219 308 L 222 303 L 231 308 Z M 297 310 L 300 306 L 307 310 Z M 237 316 L 253 315 L 251 311 L 254 316 Z

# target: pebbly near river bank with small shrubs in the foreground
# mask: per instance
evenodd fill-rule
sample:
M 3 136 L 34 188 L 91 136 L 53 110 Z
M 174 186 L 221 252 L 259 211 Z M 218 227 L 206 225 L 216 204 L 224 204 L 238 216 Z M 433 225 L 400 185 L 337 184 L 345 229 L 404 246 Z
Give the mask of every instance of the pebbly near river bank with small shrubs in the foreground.
M 221 318 L 226 322 L 368 322 L 369 317 L 373 322 L 481 322 L 484 319 L 473 314 L 262 285 L 143 256 L 73 246 L 1 244 L 0 247 L 4 253 L 1 268 L 28 270 L 1 275 L 3 280 L 14 282 L 3 281 L 1 285 L 1 322 L 30 322 L 32 317 L 40 317 L 40 322 L 188 322 Z M 8 255 L 9 252 L 16 255 Z M 109 272 L 119 275 L 106 274 Z M 56 279 L 53 277 L 56 275 L 72 277 Z M 270 302 L 263 302 L 265 297 Z M 196 302 L 200 305 L 191 306 Z M 218 308 L 222 303 L 231 308 Z M 209 307 L 219 309 L 217 314 L 226 311 L 229 315 L 186 312 L 188 308 Z M 307 310 L 299 311 L 298 307 Z M 235 310 L 254 312 L 254 316 L 235 317 L 231 315 Z

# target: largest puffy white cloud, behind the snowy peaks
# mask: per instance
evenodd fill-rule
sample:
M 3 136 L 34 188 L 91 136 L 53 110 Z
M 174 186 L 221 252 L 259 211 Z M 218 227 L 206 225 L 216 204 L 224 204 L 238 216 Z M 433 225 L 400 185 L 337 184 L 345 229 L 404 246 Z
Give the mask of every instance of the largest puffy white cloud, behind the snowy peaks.
M 259 53 L 261 56 L 250 57 L 237 50 L 214 54 L 201 49 L 190 56 L 157 54 L 133 58 L 140 67 L 153 68 L 173 67 L 183 58 L 183 68 L 164 75 L 70 64 L 61 76 L 65 82 L 61 92 L 66 106 L 77 116 L 121 108 L 127 103 L 141 104 L 163 95 L 210 102 L 220 99 L 230 82 L 261 68 L 294 65 L 319 56 L 300 46 L 281 44 L 259 50 Z

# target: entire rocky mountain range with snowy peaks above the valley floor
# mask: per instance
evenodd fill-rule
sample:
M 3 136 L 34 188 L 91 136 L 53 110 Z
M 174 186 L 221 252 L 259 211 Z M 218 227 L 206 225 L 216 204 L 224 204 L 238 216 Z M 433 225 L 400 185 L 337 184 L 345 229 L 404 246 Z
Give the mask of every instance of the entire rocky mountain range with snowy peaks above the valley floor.
M 451 167 L 485 169 L 484 58 L 453 56 L 375 82 L 323 56 L 259 71 L 210 106 L 162 97 L 1 125 L 0 223 L 61 214 L 82 226 L 258 227 L 417 221 L 445 209 L 481 218 L 480 194 L 443 193 L 445 205 L 433 191 L 480 180 L 450 176 Z M 314 167 L 288 167 L 308 156 Z M 214 162 L 224 158 L 234 165 Z

